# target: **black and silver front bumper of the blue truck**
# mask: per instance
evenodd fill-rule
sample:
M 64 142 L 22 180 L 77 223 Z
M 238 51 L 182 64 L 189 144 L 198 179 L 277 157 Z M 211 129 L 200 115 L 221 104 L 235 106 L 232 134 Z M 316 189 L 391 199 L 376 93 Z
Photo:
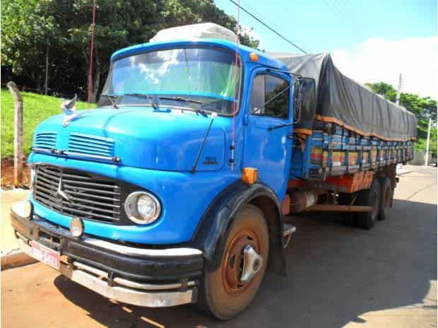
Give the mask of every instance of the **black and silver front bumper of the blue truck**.
M 69 230 L 44 218 L 26 217 L 23 203 L 12 206 L 11 223 L 23 252 L 33 256 L 32 241 L 60 252 L 61 274 L 107 298 L 146 307 L 196 302 L 196 277 L 203 268 L 200 250 L 148 249 L 74 238 Z

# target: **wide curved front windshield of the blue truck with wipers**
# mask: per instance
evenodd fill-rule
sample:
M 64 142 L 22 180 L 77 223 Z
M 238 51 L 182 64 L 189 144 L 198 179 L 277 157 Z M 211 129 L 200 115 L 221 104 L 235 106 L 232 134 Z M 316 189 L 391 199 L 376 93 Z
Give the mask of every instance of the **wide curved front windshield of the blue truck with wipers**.
M 184 48 L 146 52 L 114 61 L 102 95 L 115 95 L 114 103 L 124 106 L 151 107 L 148 97 L 135 96 L 146 94 L 160 107 L 189 107 L 187 102 L 168 99 L 182 97 L 195 100 L 201 110 L 232 114 L 240 74 L 239 64 L 235 78 L 235 54 L 225 50 Z M 236 98 L 238 102 L 239 92 Z M 100 107 L 111 105 L 109 97 L 100 98 Z

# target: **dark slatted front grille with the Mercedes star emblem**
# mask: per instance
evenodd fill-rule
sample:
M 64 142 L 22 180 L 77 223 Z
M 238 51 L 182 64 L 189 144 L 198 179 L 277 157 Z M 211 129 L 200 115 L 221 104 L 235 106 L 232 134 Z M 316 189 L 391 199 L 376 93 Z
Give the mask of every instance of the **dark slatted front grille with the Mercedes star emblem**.
M 120 219 L 121 195 L 119 181 L 78 170 L 37 165 L 35 201 L 64 215 L 116 223 Z

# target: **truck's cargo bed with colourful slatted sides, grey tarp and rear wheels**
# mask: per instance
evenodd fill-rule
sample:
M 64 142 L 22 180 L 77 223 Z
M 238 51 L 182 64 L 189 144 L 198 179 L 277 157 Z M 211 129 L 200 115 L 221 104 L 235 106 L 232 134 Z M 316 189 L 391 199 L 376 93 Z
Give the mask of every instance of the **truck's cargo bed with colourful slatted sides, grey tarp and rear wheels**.
M 413 159 L 415 116 L 341 74 L 329 54 L 271 55 L 315 81 L 295 124 L 283 213 L 350 212 L 346 223 L 372 228 L 392 204 L 396 165 Z

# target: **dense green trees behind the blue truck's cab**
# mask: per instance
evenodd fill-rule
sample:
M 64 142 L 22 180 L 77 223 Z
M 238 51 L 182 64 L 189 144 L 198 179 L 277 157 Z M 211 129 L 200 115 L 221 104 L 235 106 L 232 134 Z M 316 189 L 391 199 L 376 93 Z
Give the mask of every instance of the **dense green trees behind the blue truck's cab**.
M 237 23 L 213 0 L 96 0 L 96 5 L 92 101 L 117 49 L 148 42 L 163 28 L 212 22 L 235 30 Z M 1 6 L 2 66 L 10 66 L 18 76 L 25 74 L 41 88 L 49 40 L 49 76 L 56 78 L 57 90 L 80 94 L 86 90 L 93 0 L 5 0 Z M 240 42 L 259 45 L 246 33 Z

